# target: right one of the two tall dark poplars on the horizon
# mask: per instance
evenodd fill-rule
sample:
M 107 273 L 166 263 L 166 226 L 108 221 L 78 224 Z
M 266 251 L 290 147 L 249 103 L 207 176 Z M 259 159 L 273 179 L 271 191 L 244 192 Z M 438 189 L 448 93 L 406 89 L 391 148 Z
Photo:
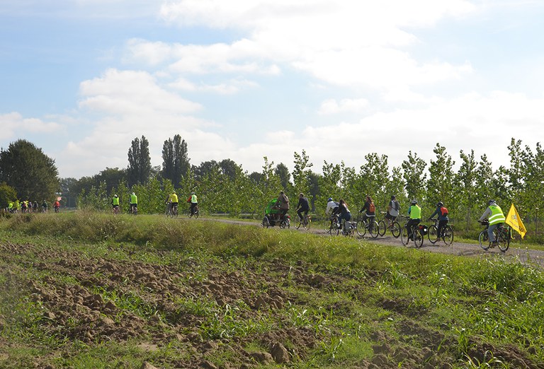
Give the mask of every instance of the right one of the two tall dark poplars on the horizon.
M 174 187 L 179 184 L 181 177 L 187 175 L 191 168 L 187 154 L 187 143 L 179 134 L 174 139 L 167 139 L 162 146 L 162 177 L 170 180 Z

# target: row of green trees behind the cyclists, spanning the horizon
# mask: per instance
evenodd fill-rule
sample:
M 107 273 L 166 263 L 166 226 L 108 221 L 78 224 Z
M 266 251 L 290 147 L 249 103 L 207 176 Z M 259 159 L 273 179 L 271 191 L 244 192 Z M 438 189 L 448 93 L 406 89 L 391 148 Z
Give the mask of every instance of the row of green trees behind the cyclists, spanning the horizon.
M 444 146 L 436 144 L 434 157 L 428 163 L 409 151 L 401 165 L 390 168 L 387 156 L 368 153 L 358 168 L 324 161 L 317 172 L 302 149 L 293 153 L 293 170 L 264 156 L 262 170 L 249 173 L 228 158 L 191 165 L 188 145 L 180 135 L 164 141 L 163 163 L 152 167 L 149 141 L 142 136 L 132 140 L 127 168 L 106 168 L 79 180 L 59 179 L 54 160 L 43 158 L 33 144 L 19 140 L 12 145 L 7 151 L 0 151 L 0 182 L 13 185 L 18 197 L 40 187 L 42 192 L 69 194 L 74 202 L 77 199 L 79 207 L 103 210 L 109 209 L 114 193 L 127 204 L 132 191 L 140 197 L 140 213 L 164 211 L 164 200 L 176 189 L 182 198 L 183 194 L 196 192 L 202 211 L 230 216 L 261 216 L 266 203 L 280 190 L 288 194 L 292 206 L 300 192 L 306 194 L 312 211 L 317 213 L 322 213 L 329 197 L 344 199 L 355 212 L 367 194 L 373 197 L 378 211 L 385 210 L 391 195 L 395 195 L 404 211 L 410 199 L 417 199 L 424 216 L 431 214 L 438 201 L 443 201 L 455 223 L 468 228 L 489 199 L 497 200 L 505 212 L 514 203 L 521 216 L 537 217 L 544 189 L 544 151 L 540 143 L 533 149 L 516 139 L 511 139 L 507 147 L 509 165 L 499 168 L 493 168 L 485 154 L 477 158 L 473 150 L 460 151 L 454 158 Z M 28 146 L 38 153 L 28 156 Z M 17 150 L 27 156 L 15 154 Z M 33 179 L 30 182 L 29 172 Z M 45 179 L 47 184 L 42 184 Z M 42 192 L 36 192 L 36 196 L 45 196 Z

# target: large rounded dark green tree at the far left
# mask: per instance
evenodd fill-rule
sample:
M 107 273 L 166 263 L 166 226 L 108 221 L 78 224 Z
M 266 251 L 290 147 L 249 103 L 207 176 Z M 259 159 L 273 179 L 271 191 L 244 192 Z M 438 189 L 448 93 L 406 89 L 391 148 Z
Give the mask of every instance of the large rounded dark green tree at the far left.
M 25 200 L 52 199 L 60 189 L 55 160 L 23 139 L 0 151 L 0 182 L 16 189 L 17 197 Z

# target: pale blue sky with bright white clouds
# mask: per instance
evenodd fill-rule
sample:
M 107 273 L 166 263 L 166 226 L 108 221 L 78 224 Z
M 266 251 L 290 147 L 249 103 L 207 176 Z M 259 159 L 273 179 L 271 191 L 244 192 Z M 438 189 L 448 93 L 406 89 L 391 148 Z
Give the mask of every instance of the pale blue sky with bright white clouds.
M 390 168 L 437 144 L 509 165 L 544 133 L 542 0 L 0 0 L 0 148 L 26 139 L 60 177 L 304 150 Z

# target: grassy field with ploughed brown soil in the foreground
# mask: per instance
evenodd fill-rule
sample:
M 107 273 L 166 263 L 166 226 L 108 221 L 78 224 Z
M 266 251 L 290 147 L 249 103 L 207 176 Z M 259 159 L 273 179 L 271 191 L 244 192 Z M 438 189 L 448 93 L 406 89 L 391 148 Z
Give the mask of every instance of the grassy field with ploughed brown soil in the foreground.
M 276 341 L 293 368 L 544 365 L 544 276 L 517 262 L 100 213 L 4 219 L 0 255 L 3 368 L 276 368 L 250 355 Z

